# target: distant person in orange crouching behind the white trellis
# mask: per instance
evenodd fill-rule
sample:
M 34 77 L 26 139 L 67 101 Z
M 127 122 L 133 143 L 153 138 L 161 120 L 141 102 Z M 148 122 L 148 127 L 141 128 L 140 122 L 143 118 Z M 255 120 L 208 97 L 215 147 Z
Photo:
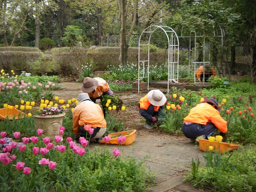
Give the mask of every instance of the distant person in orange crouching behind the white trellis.
M 210 66 L 210 64 L 204 64 L 200 66 L 196 71 L 195 71 L 195 78 L 201 83 L 206 82 L 209 77 L 212 75 L 216 75 L 215 70 Z

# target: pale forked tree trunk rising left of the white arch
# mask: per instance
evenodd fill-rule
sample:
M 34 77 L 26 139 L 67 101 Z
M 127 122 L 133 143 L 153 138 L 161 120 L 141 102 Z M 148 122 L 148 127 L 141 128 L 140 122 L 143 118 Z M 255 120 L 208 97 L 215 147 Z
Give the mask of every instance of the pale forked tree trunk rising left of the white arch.
M 119 16 L 118 20 L 121 23 L 121 30 L 120 30 L 120 56 L 119 61 L 121 64 L 127 64 L 128 59 L 128 47 L 129 47 L 129 40 L 131 38 L 134 26 L 136 24 L 136 16 L 137 16 L 137 4 L 138 0 L 134 0 L 133 3 L 133 18 L 131 23 L 131 28 L 126 34 L 126 24 L 127 24 L 127 16 L 129 11 L 131 0 L 118 0 L 119 6 Z

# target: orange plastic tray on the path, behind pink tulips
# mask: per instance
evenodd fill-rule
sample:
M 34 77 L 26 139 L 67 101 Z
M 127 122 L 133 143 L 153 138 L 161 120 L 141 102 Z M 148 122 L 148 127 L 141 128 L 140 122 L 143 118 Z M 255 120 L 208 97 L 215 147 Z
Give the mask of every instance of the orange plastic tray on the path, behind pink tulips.
M 117 132 L 117 133 L 110 133 L 108 134 L 109 137 L 111 136 L 125 136 L 126 140 L 125 142 L 122 143 L 122 145 L 130 145 L 135 141 L 135 132 L 137 130 L 131 130 L 131 131 L 122 131 L 122 132 Z M 130 134 L 128 134 L 130 133 Z M 104 140 L 100 140 L 100 143 L 105 143 Z M 119 145 L 118 141 L 117 141 L 117 137 L 116 138 L 111 138 L 109 140 L 109 142 L 107 142 L 107 144 L 117 144 Z

